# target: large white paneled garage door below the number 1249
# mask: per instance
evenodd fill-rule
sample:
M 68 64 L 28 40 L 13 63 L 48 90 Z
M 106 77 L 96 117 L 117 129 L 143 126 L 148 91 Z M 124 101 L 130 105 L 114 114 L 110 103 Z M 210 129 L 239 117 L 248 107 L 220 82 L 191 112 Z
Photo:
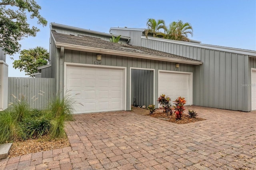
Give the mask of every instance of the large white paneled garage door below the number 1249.
M 123 69 L 67 66 L 66 90 L 76 101 L 74 113 L 124 110 Z

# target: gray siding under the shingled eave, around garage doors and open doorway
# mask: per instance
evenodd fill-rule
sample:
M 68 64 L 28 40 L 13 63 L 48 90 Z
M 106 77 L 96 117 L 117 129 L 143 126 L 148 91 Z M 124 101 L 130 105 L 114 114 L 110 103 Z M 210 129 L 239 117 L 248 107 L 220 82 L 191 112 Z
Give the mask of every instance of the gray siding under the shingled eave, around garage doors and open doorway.
M 91 53 L 91 52 L 85 52 L 85 51 L 76 51 L 76 50 L 69 50 L 65 49 L 64 52 L 64 58 L 62 60 L 59 59 L 60 67 L 63 67 L 64 62 L 69 63 L 83 63 L 83 64 L 94 64 L 94 61 L 96 60 L 96 55 L 98 53 Z M 158 70 L 169 70 L 174 71 L 175 69 L 175 63 L 172 62 L 166 62 L 166 61 L 157 61 L 157 60 L 150 60 L 150 59 L 140 59 L 140 58 L 132 58 L 132 57 L 125 57 L 125 56 L 119 56 L 119 55 L 108 55 L 108 54 L 102 54 L 102 65 L 108 65 L 108 66 L 119 66 L 119 67 L 127 67 L 127 110 L 130 110 L 130 105 L 133 105 L 133 99 L 130 103 L 130 67 L 136 67 L 136 68 L 145 68 L 145 69 L 155 69 L 155 89 L 158 89 Z M 180 64 L 179 71 L 185 71 L 185 72 L 193 72 L 194 73 L 195 66 L 190 64 Z M 64 68 L 58 69 L 58 74 L 64 75 Z M 60 77 L 59 76 L 59 77 Z M 57 82 L 57 85 L 60 84 L 60 91 L 61 89 L 64 89 L 64 77 L 60 77 L 59 79 L 60 83 Z M 153 81 L 153 80 L 152 80 Z M 138 85 L 140 85 L 138 83 Z M 138 87 L 140 88 L 140 87 Z M 152 88 L 152 87 L 150 87 Z M 132 88 L 136 89 L 136 88 Z M 134 91 L 131 92 L 134 94 Z M 153 92 L 152 92 L 153 93 Z M 64 91 L 62 91 L 62 95 L 64 94 Z M 145 99 L 148 97 L 148 95 L 145 95 L 145 93 L 141 98 L 141 101 L 147 101 L 148 99 Z M 152 95 L 150 95 L 152 96 Z M 157 98 L 158 98 L 158 90 L 155 90 L 155 104 L 157 105 Z M 151 103 L 153 104 L 153 103 Z

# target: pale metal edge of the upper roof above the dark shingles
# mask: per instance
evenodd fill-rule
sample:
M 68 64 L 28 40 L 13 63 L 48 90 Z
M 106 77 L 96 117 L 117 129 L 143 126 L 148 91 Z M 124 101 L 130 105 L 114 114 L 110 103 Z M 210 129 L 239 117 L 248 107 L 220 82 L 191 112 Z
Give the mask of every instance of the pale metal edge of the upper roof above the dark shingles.
M 102 36 L 108 36 L 110 38 L 112 38 L 113 34 L 108 34 L 108 33 L 104 33 L 104 32 L 98 32 L 98 31 L 92 31 L 92 30 L 87 30 L 84 28 L 78 28 L 78 27 L 72 27 L 72 26 L 66 26 L 63 24 L 57 24 L 57 23 L 50 23 L 50 29 L 52 30 L 52 26 L 54 27 L 60 27 L 60 28 L 66 28 L 66 29 L 70 29 L 70 30 L 76 30 L 76 31 L 81 31 L 81 32 L 88 32 L 91 34 L 98 34 L 98 35 L 102 35 Z M 119 36 L 119 35 L 113 35 L 113 36 Z M 130 40 L 130 37 L 125 37 L 125 36 L 121 36 L 120 38 L 125 39 L 125 40 Z

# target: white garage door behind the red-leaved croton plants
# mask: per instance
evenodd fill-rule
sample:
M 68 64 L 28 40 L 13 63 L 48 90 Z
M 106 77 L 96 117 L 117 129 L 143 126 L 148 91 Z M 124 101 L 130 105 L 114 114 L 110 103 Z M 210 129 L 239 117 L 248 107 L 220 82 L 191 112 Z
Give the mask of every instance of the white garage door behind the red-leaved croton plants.
M 190 103 L 190 78 L 189 74 L 159 72 L 158 96 L 165 94 L 176 100 L 179 96 L 185 97 L 186 105 Z

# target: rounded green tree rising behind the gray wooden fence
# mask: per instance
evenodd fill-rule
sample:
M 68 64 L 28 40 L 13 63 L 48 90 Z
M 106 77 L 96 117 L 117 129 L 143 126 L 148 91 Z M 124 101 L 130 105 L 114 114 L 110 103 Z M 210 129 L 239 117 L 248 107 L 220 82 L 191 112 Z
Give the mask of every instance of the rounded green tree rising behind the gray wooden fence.
M 37 67 L 47 65 L 49 61 L 49 53 L 43 47 L 24 49 L 20 54 L 19 60 L 13 62 L 13 67 L 25 71 L 30 77 L 34 77 L 32 74 L 38 72 Z

